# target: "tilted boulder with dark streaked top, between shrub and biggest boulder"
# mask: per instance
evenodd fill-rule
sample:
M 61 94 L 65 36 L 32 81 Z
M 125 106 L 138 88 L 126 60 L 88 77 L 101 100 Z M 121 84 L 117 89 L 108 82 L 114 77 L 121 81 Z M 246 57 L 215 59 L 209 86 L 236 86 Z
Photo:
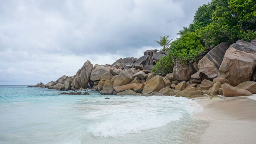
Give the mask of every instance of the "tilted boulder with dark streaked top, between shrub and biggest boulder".
M 218 69 L 230 44 L 230 42 L 220 43 L 210 50 L 199 60 L 198 71 L 203 72 L 208 78 L 216 78 L 218 76 Z

